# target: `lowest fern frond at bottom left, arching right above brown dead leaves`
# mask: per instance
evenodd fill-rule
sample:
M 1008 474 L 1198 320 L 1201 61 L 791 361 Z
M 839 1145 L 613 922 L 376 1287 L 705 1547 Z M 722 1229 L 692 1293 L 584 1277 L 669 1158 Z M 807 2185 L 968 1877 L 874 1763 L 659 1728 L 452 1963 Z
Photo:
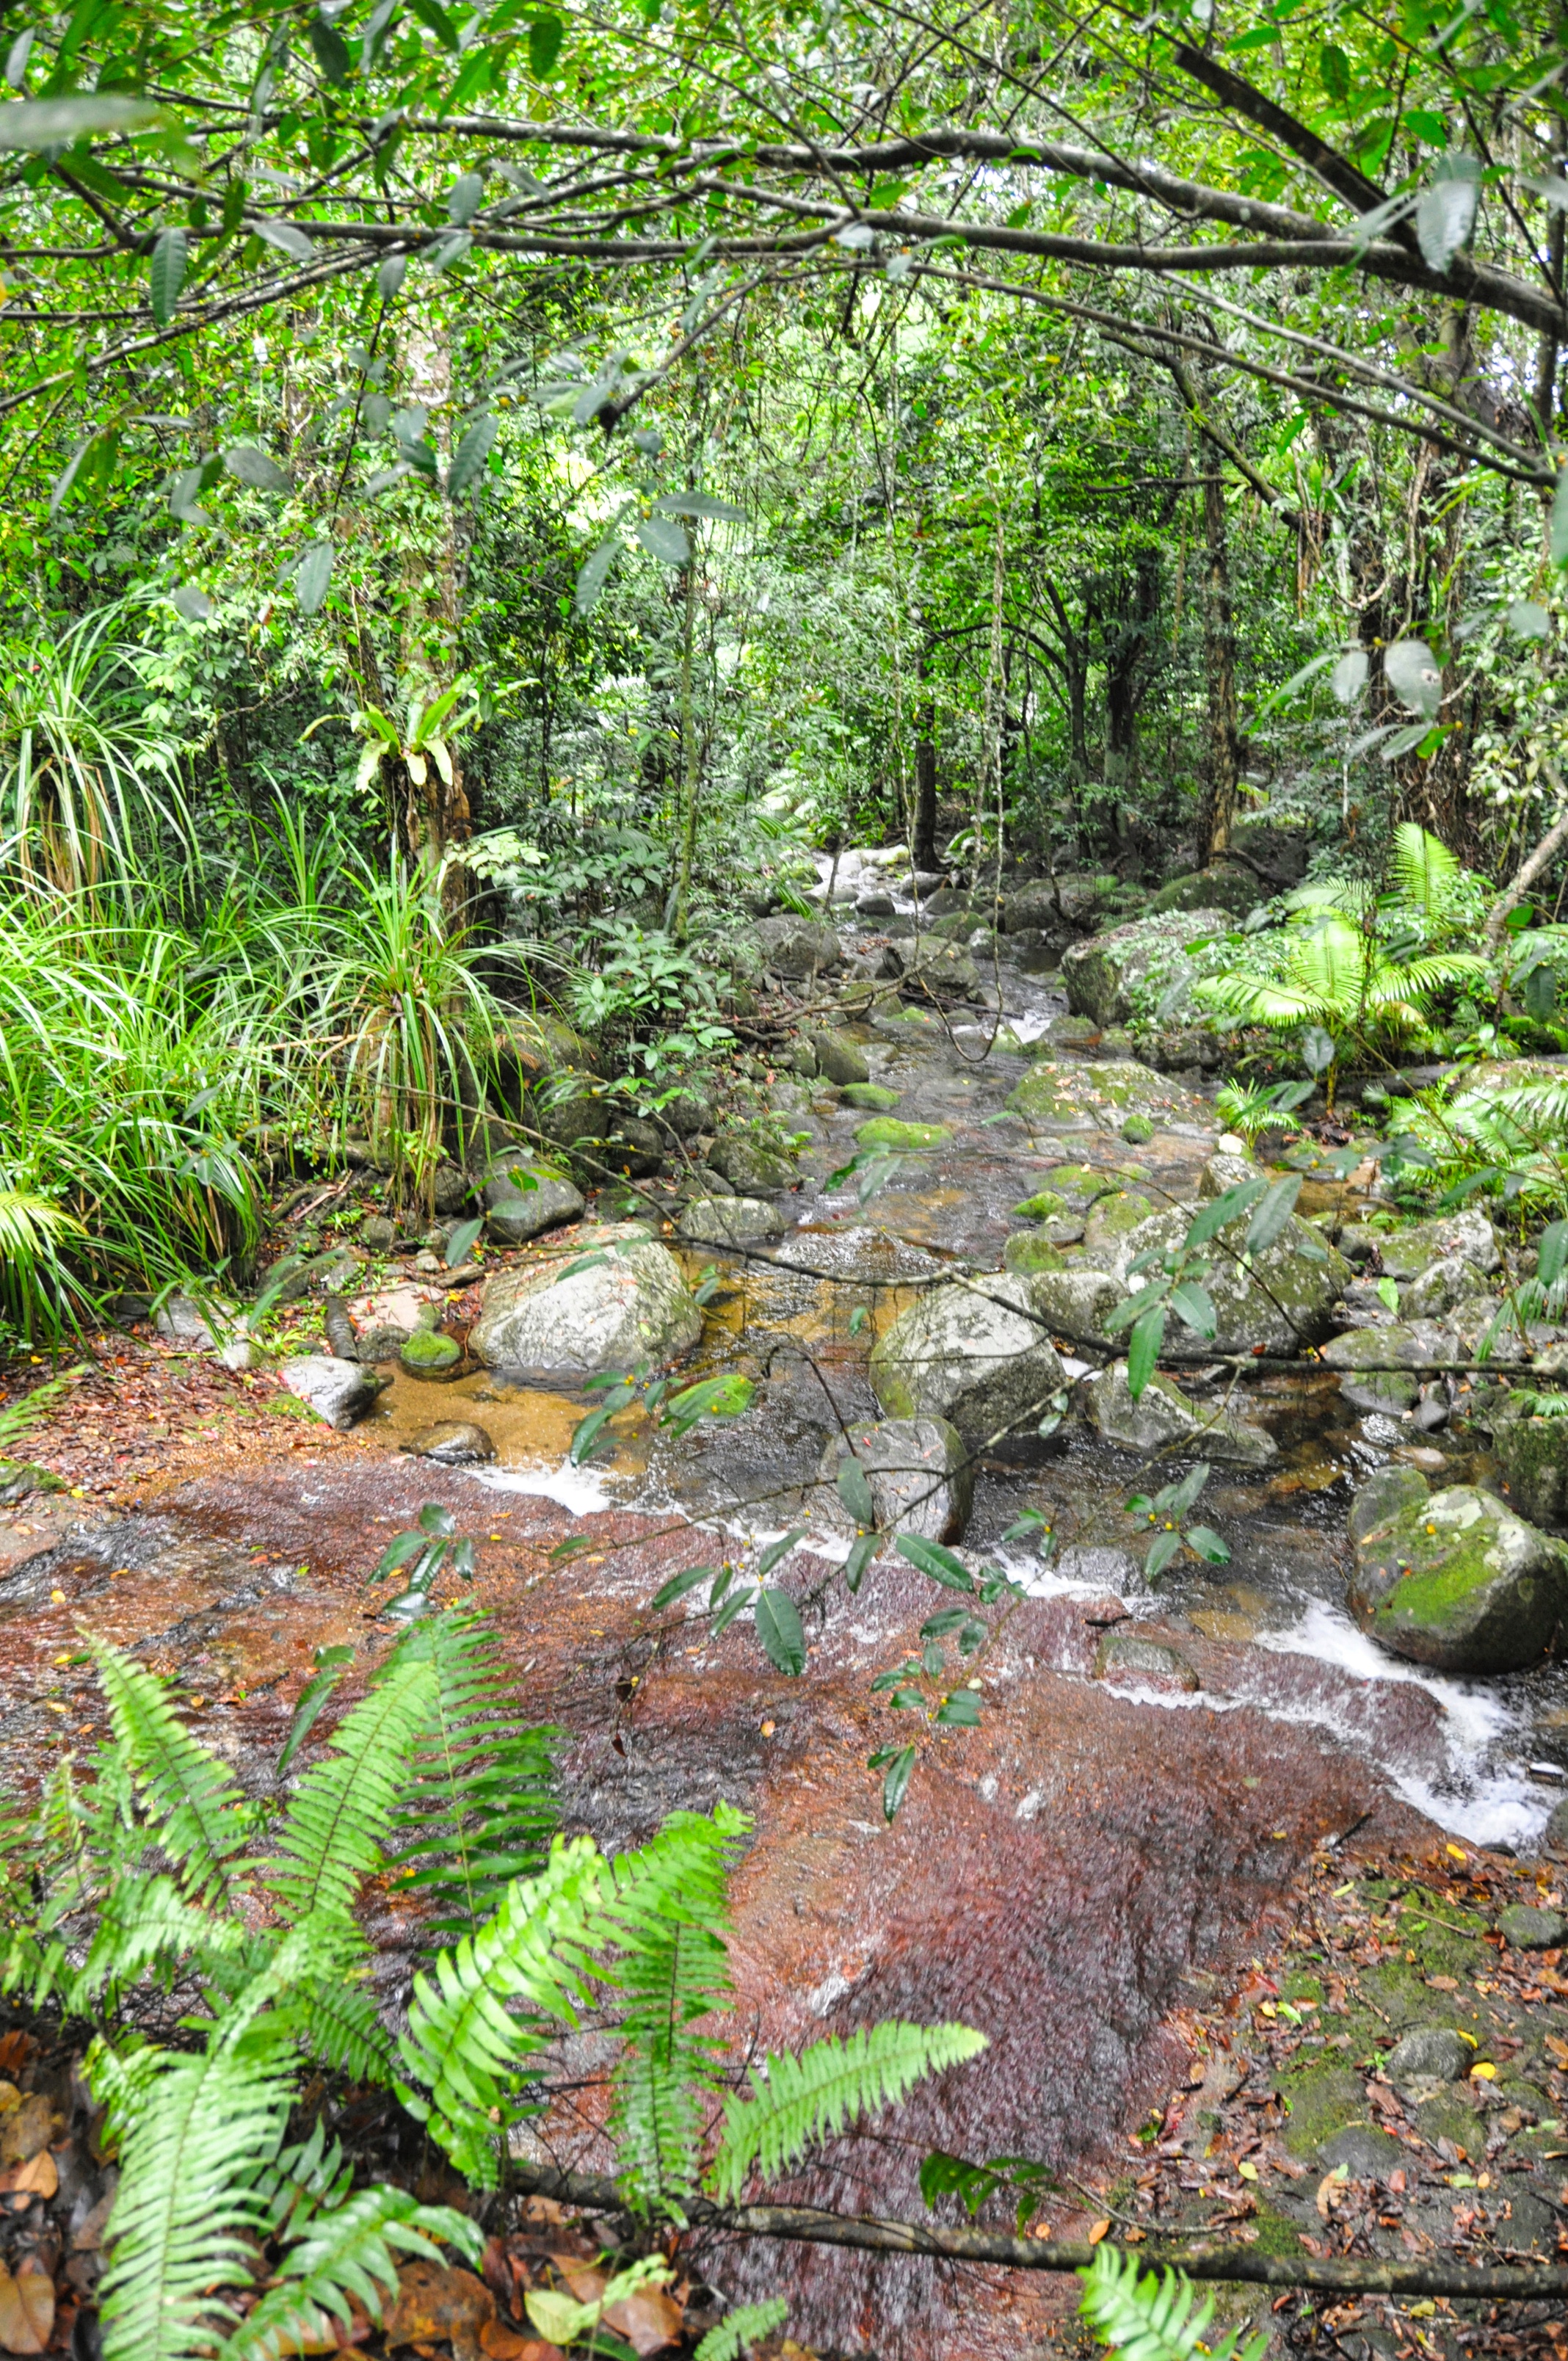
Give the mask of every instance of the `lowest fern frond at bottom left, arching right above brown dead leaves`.
M 420 2205 L 406 2189 L 357 2189 L 345 2203 L 312 2215 L 279 2264 L 279 2285 L 267 2288 L 217 2361 L 279 2361 L 281 2354 L 321 2349 L 328 2314 L 347 2328 L 349 2297 L 373 2321 L 387 2295 L 397 2295 L 394 2248 L 439 2262 L 444 2238 L 470 2262 L 484 2252 L 475 2224 L 449 2205 Z

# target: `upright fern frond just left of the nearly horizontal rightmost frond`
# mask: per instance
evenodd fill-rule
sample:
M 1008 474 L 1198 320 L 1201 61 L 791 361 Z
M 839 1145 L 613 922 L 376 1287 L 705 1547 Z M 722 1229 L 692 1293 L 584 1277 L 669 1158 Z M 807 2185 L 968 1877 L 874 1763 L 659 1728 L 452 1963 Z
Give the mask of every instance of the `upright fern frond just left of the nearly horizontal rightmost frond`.
M 626 2052 L 609 2134 L 616 2177 L 638 2212 L 690 2196 L 697 2184 L 723 2047 L 716 2030 L 701 2028 L 730 2007 L 727 1884 L 744 1827 L 727 1804 L 713 1818 L 678 1811 L 631 1863 L 612 1863 L 607 1919 L 619 1957 L 600 1974 L 619 1995 Z

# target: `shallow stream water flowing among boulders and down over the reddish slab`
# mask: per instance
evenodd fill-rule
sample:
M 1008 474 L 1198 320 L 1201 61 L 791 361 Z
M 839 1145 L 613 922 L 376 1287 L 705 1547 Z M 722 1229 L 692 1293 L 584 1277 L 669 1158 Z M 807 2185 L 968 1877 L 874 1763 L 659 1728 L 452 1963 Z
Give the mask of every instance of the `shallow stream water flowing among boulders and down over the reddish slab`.
M 1065 1006 L 1041 980 L 999 973 L 1018 1039 L 1048 1039 Z M 61 1672 L 76 1620 L 182 1679 L 241 1773 L 264 1775 L 312 1650 L 349 1639 L 361 1667 L 385 1648 L 366 1575 L 420 1502 L 446 1502 L 479 1542 L 475 1596 L 491 1608 L 529 1709 L 567 1731 L 567 1813 L 607 1844 L 638 1842 L 673 1806 L 725 1794 L 753 1813 L 737 1879 L 737 1981 L 746 2035 L 801 2042 L 888 2014 L 963 2016 L 989 2052 L 926 2092 L 893 2139 L 843 2146 L 798 2182 L 831 2203 L 919 2212 L 928 2144 L 1030 2153 L 1084 2167 L 1122 2139 L 1185 2061 L 1171 2014 L 1247 1945 L 1259 1910 L 1318 1844 L 1370 1827 L 1391 1842 L 1438 1830 L 1525 1849 L 1554 1801 L 1530 1766 L 1568 1771 L 1568 1686 L 1556 1669 L 1466 1683 L 1384 1657 L 1344 1608 L 1344 1520 L 1355 1483 L 1422 1452 L 1436 1480 L 1483 1473 L 1469 1445 L 1412 1443 L 1358 1419 L 1322 1372 L 1268 1376 L 1249 1405 L 1280 1459 L 1261 1476 L 1216 1469 L 1204 1520 L 1226 1565 L 1183 1558 L 1159 1589 L 1141 1575 L 1143 1528 L 1124 1502 L 1145 1480 L 1129 1454 L 1072 1424 L 980 1469 L 966 1549 L 1030 1591 L 985 1662 L 978 1731 L 933 1738 L 888 1830 L 867 1754 L 890 1735 L 871 1676 L 897 1662 L 933 1605 L 900 1561 L 857 1598 L 834 1580 L 843 1535 L 822 1523 L 812 1478 L 838 1421 L 874 1412 L 867 1353 L 947 1265 L 994 1270 L 1013 1206 L 1060 1162 L 1138 1169 L 1138 1185 L 1190 1192 L 1216 1126 L 1185 1124 L 1141 1147 L 1112 1131 L 1037 1145 L 1006 1110 L 1018 1055 L 982 1055 L 987 1027 L 937 1020 L 860 1027 L 900 1119 L 949 1138 L 912 1157 L 864 1206 L 829 1188 L 864 1114 L 782 1079 L 777 1103 L 810 1133 L 791 1228 L 730 1265 L 692 1376 L 739 1372 L 744 1419 L 680 1443 L 638 1412 L 588 1469 L 567 1464 L 583 1398 L 397 1376 L 359 1447 L 295 1450 L 213 1469 L 156 1513 L 66 1537 L 0 1580 L 0 1731 L 47 1750 L 92 1721 Z M 697 1277 L 711 1256 L 687 1256 Z M 494 1466 L 411 1459 L 432 1419 L 472 1417 Z M 1164 1480 L 1164 1476 L 1162 1476 Z M 1004 1535 L 1037 1509 L 1058 1554 L 1041 1563 Z M 654 1620 L 675 1568 L 796 1525 L 810 1660 L 786 1681 L 744 1624 Z M 588 1539 L 571 1558 L 550 1551 Z M 1176 1648 L 1197 1688 L 1093 1679 L 1105 1629 L 1138 1624 Z M 383 1979 L 404 1974 L 399 1922 L 378 1924 Z M 571 2141 L 564 2141 L 569 2149 Z M 593 2160 L 590 2134 L 576 2153 Z M 779 2283 L 777 2255 L 718 2257 L 751 2293 Z M 801 2328 L 893 2361 L 1020 2352 L 1065 2297 L 1006 2295 L 928 2264 L 831 2252 L 791 2257 Z

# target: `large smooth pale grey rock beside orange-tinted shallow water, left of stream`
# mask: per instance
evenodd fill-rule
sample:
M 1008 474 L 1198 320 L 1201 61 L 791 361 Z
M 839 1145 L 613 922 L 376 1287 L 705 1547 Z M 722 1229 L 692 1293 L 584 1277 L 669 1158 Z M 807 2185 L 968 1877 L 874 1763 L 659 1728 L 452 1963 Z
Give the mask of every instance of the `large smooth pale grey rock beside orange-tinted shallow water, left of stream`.
M 595 1261 L 583 1270 L 567 1256 L 486 1280 L 470 1336 L 475 1358 L 489 1369 L 600 1376 L 690 1353 L 701 1310 L 668 1247 L 626 1237 L 586 1251 Z

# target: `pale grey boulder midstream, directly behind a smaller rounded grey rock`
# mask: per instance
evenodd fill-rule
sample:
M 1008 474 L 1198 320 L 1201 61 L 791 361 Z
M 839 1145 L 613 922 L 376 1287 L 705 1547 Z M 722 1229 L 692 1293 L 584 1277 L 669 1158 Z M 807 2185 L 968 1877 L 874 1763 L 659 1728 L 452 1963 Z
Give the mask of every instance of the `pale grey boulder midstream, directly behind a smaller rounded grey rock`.
M 997 1273 L 921 1294 L 871 1350 L 871 1391 L 888 1417 L 949 1419 L 968 1445 L 1039 1424 L 1067 1379 L 1037 1284 Z

